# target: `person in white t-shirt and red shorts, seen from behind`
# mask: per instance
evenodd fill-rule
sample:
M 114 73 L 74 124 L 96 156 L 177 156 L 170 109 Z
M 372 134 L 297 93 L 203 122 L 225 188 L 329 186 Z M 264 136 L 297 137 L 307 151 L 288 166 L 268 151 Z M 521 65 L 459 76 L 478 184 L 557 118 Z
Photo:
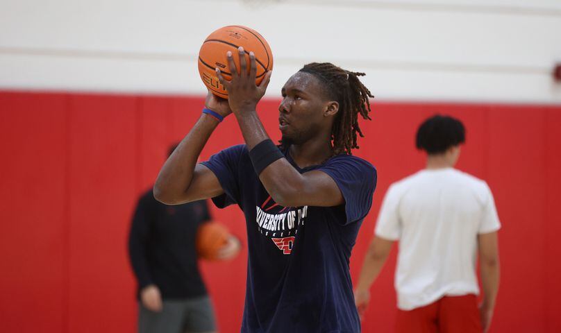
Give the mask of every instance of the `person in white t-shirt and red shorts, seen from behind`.
M 387 190 L 355 290 L 361 316 L 371 284 L 399 241 L 396 332 L 489 328 L 499 289 L 501 223 L 487 183 L 453 169 L 464 141 L 464 126 L 452 117 L 436 115 L 419 127 L 426 169 Z M 477 255 L 484 295 L 479 309 Z

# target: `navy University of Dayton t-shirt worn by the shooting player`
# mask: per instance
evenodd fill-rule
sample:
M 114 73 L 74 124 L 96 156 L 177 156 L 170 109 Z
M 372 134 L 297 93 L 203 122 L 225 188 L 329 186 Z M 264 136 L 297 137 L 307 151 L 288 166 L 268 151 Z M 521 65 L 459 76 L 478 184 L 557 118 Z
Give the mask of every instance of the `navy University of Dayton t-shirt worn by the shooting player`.
M 245 145 L 227 148 L 203 164 L 224 194 L 219 208 L 237 204 L 246 218 L 249 257 L 242 332 L 360 332 L 349 257 L 372 204 L 376 169 L 351 155 L 299 169 L 321 170 L 341 190 L 335 207 L 282 207 L 261 184 Z

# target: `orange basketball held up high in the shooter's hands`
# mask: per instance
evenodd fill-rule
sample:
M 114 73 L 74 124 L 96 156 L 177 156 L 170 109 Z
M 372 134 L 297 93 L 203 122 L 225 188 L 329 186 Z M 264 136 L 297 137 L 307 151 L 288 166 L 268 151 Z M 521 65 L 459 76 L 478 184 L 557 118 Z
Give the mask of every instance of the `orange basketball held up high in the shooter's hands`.
M 228 66 L 226 52 L 233 53 L 233 59 L 240 72 L 240 57 L 237 48 L 243 46 L 246 53 L 246 63 L 249 71 L 249 52 L 256 56 L 257 74 L 256 84 L 261 83 L 265 73 L 273 69 L 273 53 L 265 38 L 257 31 L 246 26 L 224 26 L 211 33 L 203 42 L 199 51 L 199 74 L 203 83 L 216 96 L 228 98 L 228 92 L 221 85 L 216 76 L 215 68 L 222 71 L 226 80 L 231 80 L 231 69 Z

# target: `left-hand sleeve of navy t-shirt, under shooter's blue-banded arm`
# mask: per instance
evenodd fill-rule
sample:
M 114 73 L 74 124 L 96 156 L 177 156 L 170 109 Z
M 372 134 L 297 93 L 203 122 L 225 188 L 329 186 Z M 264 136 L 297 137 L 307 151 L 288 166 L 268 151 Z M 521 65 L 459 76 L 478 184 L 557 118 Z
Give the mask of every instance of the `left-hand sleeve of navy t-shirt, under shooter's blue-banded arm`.
M 202 162 L 218 178 L 224 194 L 212 198 L 212 202 L 219 208 L 224 208 L 233 203 L 240 203 L 240 178 L 238 169 L 240 157 L 246 151 L 246 146 L 240 144 L 224 149 L 212 155 L 210 160 Z

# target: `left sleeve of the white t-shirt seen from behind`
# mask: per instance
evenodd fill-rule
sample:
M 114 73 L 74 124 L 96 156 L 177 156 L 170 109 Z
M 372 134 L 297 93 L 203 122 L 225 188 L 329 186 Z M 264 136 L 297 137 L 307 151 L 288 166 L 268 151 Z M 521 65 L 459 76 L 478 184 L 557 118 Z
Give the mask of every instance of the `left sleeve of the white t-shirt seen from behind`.
M 378 221 L 376 221 L 376 236 L 396 241 L 401 237 L 401 223 L 399 221 L 399 194 L 394 185 L 387 189 L 386 195 L 380 207 Z

